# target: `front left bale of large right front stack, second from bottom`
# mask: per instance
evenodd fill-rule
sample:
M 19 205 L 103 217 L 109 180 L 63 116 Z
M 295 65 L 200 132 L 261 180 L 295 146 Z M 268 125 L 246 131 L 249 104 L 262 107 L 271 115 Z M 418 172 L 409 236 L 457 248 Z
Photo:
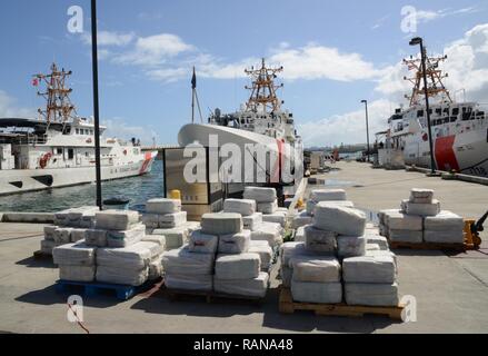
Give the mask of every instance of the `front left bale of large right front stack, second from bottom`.
M 340 264 L 332 256 L 293 257 L 290 259 L 293 280 L 312 283 L 340 281 Z

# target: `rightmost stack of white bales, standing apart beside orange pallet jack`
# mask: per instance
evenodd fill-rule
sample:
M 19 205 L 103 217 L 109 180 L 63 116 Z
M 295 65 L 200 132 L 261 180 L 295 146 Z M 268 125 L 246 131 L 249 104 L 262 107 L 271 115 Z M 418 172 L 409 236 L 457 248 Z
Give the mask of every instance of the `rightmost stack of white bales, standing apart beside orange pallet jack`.
M 464 219 L 448 210 L 440 210 L 434 190 L 415 188 L 410 199 L 401 201 L 401 209 L 378 214 L 380 234 L 396 243 L 462 244 Z

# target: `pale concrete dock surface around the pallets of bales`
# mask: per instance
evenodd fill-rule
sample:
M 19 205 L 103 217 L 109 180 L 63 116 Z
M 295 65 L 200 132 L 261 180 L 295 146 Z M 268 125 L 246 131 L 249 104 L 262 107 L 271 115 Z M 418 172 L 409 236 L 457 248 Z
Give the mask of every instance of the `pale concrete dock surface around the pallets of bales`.
M 488 208 L 486 186 L 428 178 L 420 172 L 371 169 L 339 162 L 320 175 L 347 190 L 350 200 L 374 214 L 395 208 L 414 187 L 432 188 L 444 209 L 479 218 Z M 317 186 L 309 186 L 308 190 Z M 68 323 L 66 299 L 56 294 L 58 270 L 31 256 L 42 225 L 0 224 L 0 330 L 8 333 L 84 333 Z M 488 241 L 485 233 L 481 236 Z M 486 333 L 488 330 L 488 244 L 479 251 L 447 256 L 441 251 L 397 250 L 400 295 L 417 299 L 417 322 L 381 317 L 345 318 L 278 312 L 276 271 L 261 306 L 231 303 L 170 301 L 158 291 L 128 301 L 111 297 L 84 300 L 91 333 Z

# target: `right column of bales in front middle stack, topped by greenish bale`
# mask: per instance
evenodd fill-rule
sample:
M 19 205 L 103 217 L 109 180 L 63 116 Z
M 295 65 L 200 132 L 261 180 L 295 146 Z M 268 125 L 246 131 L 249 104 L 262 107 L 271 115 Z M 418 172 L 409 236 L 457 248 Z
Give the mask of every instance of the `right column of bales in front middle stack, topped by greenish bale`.
M 240 215 L 203 215 L 201 226 L 205 233 L 219 236 L 213 276 L 215 290 L 229 295 L 265 297 L 269 275 L 261 271 L 261 254 L 249 253 L 251 231 L 242 229 Z M 262 250 L 262 247 L 257 245 L 253 248 Z M 270 264 L 269 259 L 268 249 L 265 264 Z

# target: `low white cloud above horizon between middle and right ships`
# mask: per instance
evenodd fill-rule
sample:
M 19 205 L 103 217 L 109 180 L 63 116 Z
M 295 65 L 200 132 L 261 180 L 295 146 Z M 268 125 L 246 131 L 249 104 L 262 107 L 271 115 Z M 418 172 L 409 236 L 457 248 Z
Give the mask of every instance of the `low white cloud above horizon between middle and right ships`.
M 375 134 L 387 128 L 387 119 L 391 112 L 391 102 L 386 99 L 371 101 L 368 105 L 370 144 Z M 298 125 L 298 132 L 307 147 L 366 142 L 366 113 L 363 105 L 358 102 L 358 110 L 335 115 L 327 119 L 311 120 Z

